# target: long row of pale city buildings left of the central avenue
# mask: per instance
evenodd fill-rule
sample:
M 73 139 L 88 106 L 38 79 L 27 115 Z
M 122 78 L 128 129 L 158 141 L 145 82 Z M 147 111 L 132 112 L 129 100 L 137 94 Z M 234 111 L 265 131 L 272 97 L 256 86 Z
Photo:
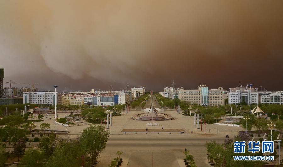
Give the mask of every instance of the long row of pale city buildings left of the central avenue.
M 92 91 L 63 92 L 50 91 L 24 92 L 23 103 L 54 105 L 93 105 L 113 106 L 130 104 L 131 101 L 144 95 L 144 88 L 132 88 L 131 91 Z

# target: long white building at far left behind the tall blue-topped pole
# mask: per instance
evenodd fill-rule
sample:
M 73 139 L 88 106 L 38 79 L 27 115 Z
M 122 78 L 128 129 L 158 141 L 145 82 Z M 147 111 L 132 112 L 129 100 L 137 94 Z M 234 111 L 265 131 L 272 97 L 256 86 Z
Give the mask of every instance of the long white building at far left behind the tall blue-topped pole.
M 62 105 L 62 93 L 51 91 L 37 91 L 37 92 L 24 92 L 24 104 L 49 104 L 49 105 Z

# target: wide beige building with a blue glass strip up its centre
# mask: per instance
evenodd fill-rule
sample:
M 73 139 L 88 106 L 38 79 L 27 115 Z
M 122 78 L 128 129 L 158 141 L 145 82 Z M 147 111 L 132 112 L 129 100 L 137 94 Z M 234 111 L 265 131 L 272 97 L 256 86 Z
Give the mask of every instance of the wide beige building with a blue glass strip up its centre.
M 202 106 L 222 106 L 225 102 L 224 88 L 208 89 L 207 85 L 200 85 L 198 89 L 178 90 L 178 98 L 181 101 L 191 102 Z

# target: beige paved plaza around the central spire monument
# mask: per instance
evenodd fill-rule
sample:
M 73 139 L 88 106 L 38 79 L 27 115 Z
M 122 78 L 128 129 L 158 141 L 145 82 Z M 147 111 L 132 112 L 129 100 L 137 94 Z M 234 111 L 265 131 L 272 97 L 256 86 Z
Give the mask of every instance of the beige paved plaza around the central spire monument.
M 148 103 L 151 103 L 150 98 Z M 156 107 L 156 105 L 157 101 L 154 101 L 154 106 Z M 150 107 L 150 105 L 147 104 L 146 107 Z M 193 117 L 178 114 L 175 110 L 170 109 L 165 109 L 164 113 L 175 117 L 174 120 L 139 121 L 131 119 L 131 117 L 139 113 L 142 113 L 141 109 L 136 108 L 130 110 L 127 114 L 124 111 L 121 116 L 113 117 L 113 126 L 109 126 L 110 139 L 106 149 L 100 155 L 100 162 L 97 167 L 108 166 L 117 156 L 116 152 L 118 150 L 124 152 L 121 155 L 123 166 L 178 167 L 178 160 L 185 158 L 183 154 L 185 148 L 189 151 L 189 154 L 194 156 L 197 166 L 210 166 L 206 158 L 205 143 L 213 140 L 223 143 L 227 134 L 233 138 L 238 131 L 243 130 L 241 127 L 233 127 L 231 132 L 230 126 L 208 124 L 205 127 L 203 125 L 201 131 L 201 125 L 200 129 L 194 126 Z M 56 130 L 54 116 L 54 114 L 49 115 L 48 117 L 52 119 L 46 119 L 45 122 L 51 124 L 51 130 Z M 64 116 L 65 113 L 58 114 L 58 117 Z M 147 123 L 152 122 L 159 125 L 147 126 Z M 41 123 L 43 122 L 35 123 L 37 128 Z M 63 127 L 58 125 L 58 130 L 70 131 L 68 134 L 60 135 L 61 137 L 75 139 L 80 135 L 80 131 L 88 126 Z M 148 133 L 145 131 L 146 128 L 149 129 Z M 219 134 L 217 134 L 217 128 Z M 191 133 L 191 130 L 193 133 Z M 204 134 L 204 130 L 206 130 L 206 134 Z M 181 134 L 181 131 L 185 133 Z

